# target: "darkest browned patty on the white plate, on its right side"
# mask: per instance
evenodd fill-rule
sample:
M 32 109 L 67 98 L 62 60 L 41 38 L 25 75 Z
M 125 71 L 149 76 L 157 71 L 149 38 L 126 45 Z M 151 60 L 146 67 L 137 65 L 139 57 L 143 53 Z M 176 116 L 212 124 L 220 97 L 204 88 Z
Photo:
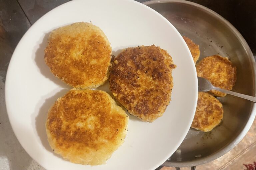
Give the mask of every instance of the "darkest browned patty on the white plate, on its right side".
M 165 112 L 173 88 L 172 57 L 155 45 L 123 50 L 110 71 L 110 90 L 130 114 L 153 122 Z

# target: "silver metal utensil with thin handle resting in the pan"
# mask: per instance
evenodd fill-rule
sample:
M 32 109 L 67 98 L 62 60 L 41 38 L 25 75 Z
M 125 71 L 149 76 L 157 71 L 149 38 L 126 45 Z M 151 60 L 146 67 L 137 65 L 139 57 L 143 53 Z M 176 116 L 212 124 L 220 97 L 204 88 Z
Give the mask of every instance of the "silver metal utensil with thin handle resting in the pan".
M 215 87 L 212 85 L 212 83 L 209 80 L 202 78 L 202 77 L 197 77 L 197 79 L 198 79 L 198 91 L 199 92 L 207 92 L 210 90 L 217 90 L 217 91 L 227 93 L 227 94 L 230 94 L 233 96 L 241 97 L 243 99 L 247 99 L 247 100 L 250 100 L 250 101 L 256 103 L 256 97 L 248 96 L 248 95 L 244 95 L 244 94 L 240 94 L 240 93 L 236 93 L 236 92 L 232 92 L 229 90 Z

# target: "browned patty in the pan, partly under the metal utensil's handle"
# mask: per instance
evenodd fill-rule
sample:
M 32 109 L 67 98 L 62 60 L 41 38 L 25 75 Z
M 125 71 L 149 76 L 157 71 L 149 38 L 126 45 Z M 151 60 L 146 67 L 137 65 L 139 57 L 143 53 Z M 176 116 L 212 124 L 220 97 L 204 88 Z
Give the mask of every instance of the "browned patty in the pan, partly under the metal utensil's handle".
M 227 57 L 220 55 L 208 56 L 196 64 L 198 77 L 208 79 L 214 86 L 232 90 L 236 82 L 236 67 Z M 211 94 L 218 97 L 226 96 L 225 93 L 211 90 Z

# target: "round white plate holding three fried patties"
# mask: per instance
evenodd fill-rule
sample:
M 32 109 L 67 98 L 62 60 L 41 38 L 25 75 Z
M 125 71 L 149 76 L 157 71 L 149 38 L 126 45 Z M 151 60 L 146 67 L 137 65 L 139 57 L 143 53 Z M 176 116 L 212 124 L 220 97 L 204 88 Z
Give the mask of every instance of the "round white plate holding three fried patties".
M 164 115 L 153 123 L 130 116 L 124 144 L 99 166 L 63 160 L 51 150 L 45 132 L 47 110 L 70 89 L 44 63 L 47 37 L 53 29 L 81 21 L 92 21 L 104 31 L 114 55 L 125 47 L 156 44 L 166 49 L 177 65 L 172 101 Z M 196 102 L 196 70 L 182 37 L 160 14 L 131 0 L 75 0 L 48 12 L 17 45 L 6 78 L 6 106 L 12 128 L 28 154 L 48 170 L 153 170 L 181 144 Z

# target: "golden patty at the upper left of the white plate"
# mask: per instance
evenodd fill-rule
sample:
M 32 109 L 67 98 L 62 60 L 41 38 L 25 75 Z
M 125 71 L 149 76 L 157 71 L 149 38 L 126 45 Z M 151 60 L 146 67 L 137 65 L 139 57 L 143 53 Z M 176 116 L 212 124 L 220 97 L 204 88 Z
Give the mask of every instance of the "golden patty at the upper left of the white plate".
M 49 36 L 45 62 L 51 72 L 75 88 L 95 88 L 107 80 L 111 46 L 90 23 L 60 27 Z

